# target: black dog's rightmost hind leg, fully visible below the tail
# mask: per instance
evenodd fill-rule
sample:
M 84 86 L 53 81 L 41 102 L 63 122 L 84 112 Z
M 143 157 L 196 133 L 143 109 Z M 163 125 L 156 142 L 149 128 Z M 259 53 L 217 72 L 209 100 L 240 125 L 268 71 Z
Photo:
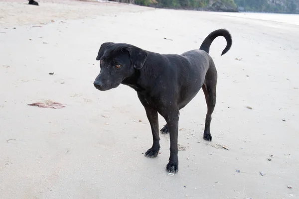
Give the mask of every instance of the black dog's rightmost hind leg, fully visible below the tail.
M 214 63 L 211 63 L 211 66 L 206 74 L 204 84 L 202 85 L 202 90 L 206 99 L 207 109 L 208 109 L 206 114 L 204 133 L 203 133 L 203 139 L 207 141 L 212 141 L 210 124 L 212 120 L 212 113 L 216 105 L 216 85 L 217 85 L 217 71 Z

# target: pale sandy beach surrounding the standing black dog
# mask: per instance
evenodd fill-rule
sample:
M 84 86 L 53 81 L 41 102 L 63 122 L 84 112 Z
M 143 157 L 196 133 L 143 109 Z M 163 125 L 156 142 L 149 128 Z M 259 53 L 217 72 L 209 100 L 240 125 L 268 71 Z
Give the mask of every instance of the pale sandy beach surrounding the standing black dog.
M 299 198 L 299 15 L 38 2 L 0 0 L 0 199 Z M 136 92 L 94 88 L 99 47 L 181 54 L 219 28 L 233 46 L 220 56 L 224 38 L 211 45 L 213 141 L 202 139 L 200 91 L 180 111 L 185 150 L 168 176 L 169 135 L 157 158 L 144 157 L 152 135 Z M 46 100 L 66 107 L 27 105 Z

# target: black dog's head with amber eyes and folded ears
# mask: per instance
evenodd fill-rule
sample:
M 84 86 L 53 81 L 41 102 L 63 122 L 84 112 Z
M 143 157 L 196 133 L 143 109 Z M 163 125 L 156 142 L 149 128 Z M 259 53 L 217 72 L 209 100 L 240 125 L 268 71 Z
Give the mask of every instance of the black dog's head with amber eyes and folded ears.
M 96 58 L 100 60 L 101 71 L 94 86 L 100 91 L 118 87 L 143 67 L 147 57 L 147 51 L 130 44 L 103 43 Z

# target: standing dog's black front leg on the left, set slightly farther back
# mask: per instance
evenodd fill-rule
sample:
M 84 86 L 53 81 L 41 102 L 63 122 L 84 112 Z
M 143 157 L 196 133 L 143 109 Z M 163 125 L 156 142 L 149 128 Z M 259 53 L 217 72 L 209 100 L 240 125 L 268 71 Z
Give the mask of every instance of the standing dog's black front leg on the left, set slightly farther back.
M 159 122 L 158 122 L 158 113 L 156 110 L 145 107 L 147 116 L 149 119 L 149 124 L 152 133 L 152 147 L 146 152 L 145 156 L 147 157 L 157 157 L 160 150 L 160 137 L 159 137 Z

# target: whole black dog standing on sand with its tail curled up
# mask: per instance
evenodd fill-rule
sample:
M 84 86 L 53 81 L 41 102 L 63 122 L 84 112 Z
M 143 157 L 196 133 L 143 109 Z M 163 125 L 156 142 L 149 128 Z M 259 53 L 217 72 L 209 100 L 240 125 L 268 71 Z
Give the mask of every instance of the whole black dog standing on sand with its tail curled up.
M 170 132 L 170 157 L 166 170 L 178 171 L 177 133 L 179 110 L 192 100 L 202 88 L 208 111 L 203 139 L 212 140 L 210 133 L 211 115 L 216 103 L 217 71 L 209 56 L 213 40 L 223 36 L 227 45 L 225 54 L 232 45 L 232 37 L 225 29 L 210 33 L 199 50 L 187 51 L 181 55 L 161 55 L 124 43 L 103 43 L 96 60 L 100 60 L 101 72 L 94 86 L 107 91 L 120 84 L 137 91 L 149 119 L 153 144 L 146 152 L 148 157 L 156 157 L 160 149 L 158 114 L 167 124 L 161 132 Z

